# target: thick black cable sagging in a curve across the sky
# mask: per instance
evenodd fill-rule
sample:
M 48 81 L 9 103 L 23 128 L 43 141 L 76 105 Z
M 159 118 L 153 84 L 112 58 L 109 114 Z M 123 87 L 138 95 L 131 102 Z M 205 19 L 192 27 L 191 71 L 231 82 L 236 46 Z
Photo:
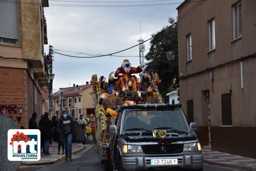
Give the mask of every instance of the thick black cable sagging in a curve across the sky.
M 152 38 L 154 38 L 154 37 L 156 37 L 156 36 L 162 34 L 163 32 L 165 32 L 167 29 L 171 28 L 171 27 L 174 26 L 175 24 L 177 24 L 177 22 L 176 22 L 176 23 L 173 23 L 171 26 L 167 27 L 167 28 L 164 29 L 162 32 L 157 33 L 156 35 L 152 36 L 151 38 L 149 38 L 149 39 L 147 39 L 147 40 L 145 40 L 145 41 L 143 41 L 143 42 L 141 42 L 141 43 L 139 43 L 139 44 L 137 44 L 137 45 L 134 45 L 134 46 L 131 46 L 131 47 L 127 48 L 127 49 L 123 49 L 123 50 L 120 50 L 120 51 L 118 51 L 118 52 L 113 52 L 113 53 L 110 53 L 110 54 L 107 54 L 107 55 L 97 55 L 97 56 L 73 56 L 73 55 L 67 55 L 67 54 L 63 54 L 63 53 L 60 53 L 60 52 L 56 52 L 55 49 L 53 49 L 52 52 L 58 53 L 58 54 L 64 55 L 64 56 L 73 57 L 73 58 L 99 58 L 99 57 L 103 57 L 103 56 L 113 56 L 113 55 L 116 54 L 116 53 L 124 52 L 124 51 L 126 51 L 126 50 L 128 50 L 128 49 L 134 48 L 134 47 L 136 47 L 136 46 L 139 46 L 139 45 L 142 44 L 142 43 L 145 43 L 145 42 L 151 40 Z M 72 52 L 72 51 L 70 51 L 70 52 Z M 127 57 L 127 56 L 124 56 L 124 57 Z

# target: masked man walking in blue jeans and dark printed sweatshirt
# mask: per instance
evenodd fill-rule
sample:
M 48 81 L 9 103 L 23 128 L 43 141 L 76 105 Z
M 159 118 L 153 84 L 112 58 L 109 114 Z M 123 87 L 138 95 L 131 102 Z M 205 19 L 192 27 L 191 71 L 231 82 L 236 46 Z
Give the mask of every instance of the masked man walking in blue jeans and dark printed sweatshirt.
M 76 139 L 75 124 L 71 116 L 66 111 L 62 112 L 58 121 L 57 130 L 60 133 L 60 141 L 64 142 L 65 161 L 72 160 L 72 138 Z

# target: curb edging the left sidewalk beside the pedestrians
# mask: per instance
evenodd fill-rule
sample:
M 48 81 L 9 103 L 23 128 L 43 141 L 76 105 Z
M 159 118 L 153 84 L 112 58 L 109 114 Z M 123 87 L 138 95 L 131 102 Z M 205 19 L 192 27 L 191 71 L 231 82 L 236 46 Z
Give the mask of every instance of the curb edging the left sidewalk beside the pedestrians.
M 82 146 L 82 145 L 81 145 L 81 146 Z M 87 149 L 86 149 L 85 147 L 81 147 L 81 148 L 79 148 L 79 149 L 73 151 L 72 154 L 77 154 L 77 153 L 79 153 L 80 151 L 83 151 L 84 149 L 85 149 L 86 151 L 88 151 L 88 150 L 90 150 L 90 148 L 92 148 L 92 147 L 93 147 L 93 145 L 90 146 L 90 147 L 87 148 Z M 19 166 L 19 168 L 31 168 L 31 167 L 39 167 L 39 166 L 44 166 L 44 165 L 52 165 L 52 164 L 56 164 L 56 163 L 60 162 L 60 161 L 63 160 L 64 158 L 65 158 L 65 156 L 61 156 L 61 157 L 59 157 L 59 158 L 57 158 L 57 159 L 55 159 L 55 160 L 49 161 L 49 162 L 31 163 L 31 164 L 21 164 L 21 165 Z

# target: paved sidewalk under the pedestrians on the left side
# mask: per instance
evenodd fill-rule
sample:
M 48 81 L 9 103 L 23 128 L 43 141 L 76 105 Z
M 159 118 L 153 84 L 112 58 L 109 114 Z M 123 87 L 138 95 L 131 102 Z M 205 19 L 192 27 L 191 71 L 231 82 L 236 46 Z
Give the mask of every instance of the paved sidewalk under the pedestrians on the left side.
M 85 149 L 86 145 L 83 145 L 81 143 L 72 143 L 72 154 L 76 154 L 79 151 L 82 151 Z M 61 154 L 62 153 L 62 147 L 60 150 L 60 154 L 58 154 L 58 143 L 57 142 L 52 142 L 52 145 L 50 145 L 49 147 L 49 153 L 51 155 L 49 156 L 45 156 L 44 154 L 41 154 L 41 159 L 39 161 L 24 161 L 21 162 L 20 164 L 20 168 L 29 166 L 29 165 L 49 165 L 49 164 L 53 164 L 53 163 L 57 163 L 59 161 L 61 161 L 62 159 L 64 159 L 65 154 Z

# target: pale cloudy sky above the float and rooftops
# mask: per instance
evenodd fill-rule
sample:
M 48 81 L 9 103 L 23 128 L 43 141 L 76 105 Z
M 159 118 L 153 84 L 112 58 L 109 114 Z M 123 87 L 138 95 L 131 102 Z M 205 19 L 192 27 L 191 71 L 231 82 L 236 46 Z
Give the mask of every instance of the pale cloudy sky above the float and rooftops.
M 182 1 L 168 0 L 141 4 Z M 49 0 L 49 3 L 67 4 L 70 2 Z M 72 2 L 71 4 L 99 5 L 99 3 L 77 2 Z M 116 5 L 117 3 L 111 4 Z M 100 3 L 100 5 L 104 4 Z M 177 17 L 176 8 L 178 5 L 123 8 L 49 6 L 44 8 L 48 37 L 48 45 L 45 45 L 45 52 L 48 54 L 49 45 L 54 46 L 54 49 L 89 54 L 108 54 L 126 49 L 137 44 L 137 40 L 140 39 L 140 19 L 142 38 L 146 40 L 151 37 L 152 33 L 169 24 L 168 17 Z M 145 54 L 148 52 L 149 47 L 149 42 L 145 43 Z M 75 54 L 72 52 L 61 53 Z M 139 55 L 139 47 L 134 47 L 116 55 L 137 56 Z M 93 74 L 97 74 L 98 78 L 101 75 L 108 77 L 110 72 L 121 66 L 124 59 L 125 57 L 71 58 L 54 54 L 53 73 L 55 78 L 53 80 L 53 93 L 60 87 L 86 84 L 86 81 L 90 81 Z M 132 67 L 139 65 L 138 57 L 128 57 L 127 59 L 131 61 Z

